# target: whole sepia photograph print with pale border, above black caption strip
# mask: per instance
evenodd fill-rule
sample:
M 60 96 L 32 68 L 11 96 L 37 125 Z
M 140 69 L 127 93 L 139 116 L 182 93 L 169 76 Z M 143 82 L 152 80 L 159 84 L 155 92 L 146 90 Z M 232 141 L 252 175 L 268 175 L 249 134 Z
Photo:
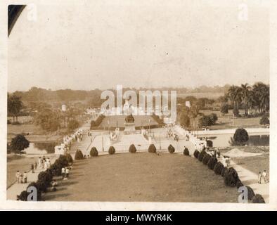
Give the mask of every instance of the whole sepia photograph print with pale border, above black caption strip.
M 270 203 L 270 4 L 5 11 L 6 201 Z

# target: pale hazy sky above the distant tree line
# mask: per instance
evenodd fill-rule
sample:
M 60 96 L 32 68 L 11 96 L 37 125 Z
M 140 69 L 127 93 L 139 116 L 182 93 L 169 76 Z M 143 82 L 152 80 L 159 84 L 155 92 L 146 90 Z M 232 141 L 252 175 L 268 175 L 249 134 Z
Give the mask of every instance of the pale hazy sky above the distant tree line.
M 8 91 L 269 83 L 266 8 L 248 5 L 241 21 L 236 1 L 208 2 L 40 5 L 36 21 L 25 8 L 8 38 Z

